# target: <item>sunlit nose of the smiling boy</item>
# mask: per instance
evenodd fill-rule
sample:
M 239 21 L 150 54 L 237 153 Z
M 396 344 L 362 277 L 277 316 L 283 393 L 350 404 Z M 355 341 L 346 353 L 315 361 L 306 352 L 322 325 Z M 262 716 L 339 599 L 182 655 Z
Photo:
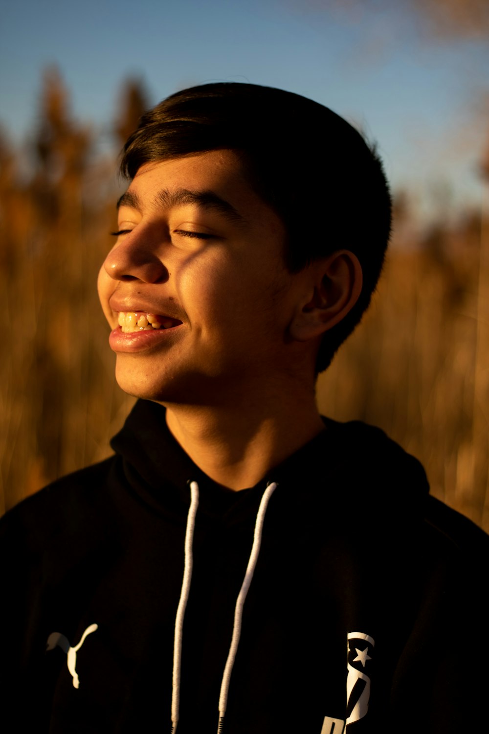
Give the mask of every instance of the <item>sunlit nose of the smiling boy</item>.
M 164 283 L 169 272 L 161 261 L 160 247 L 144 230 L 120 236 L 109 252 L 103 267 L 114 280 L 141 280 L 143 283 Z

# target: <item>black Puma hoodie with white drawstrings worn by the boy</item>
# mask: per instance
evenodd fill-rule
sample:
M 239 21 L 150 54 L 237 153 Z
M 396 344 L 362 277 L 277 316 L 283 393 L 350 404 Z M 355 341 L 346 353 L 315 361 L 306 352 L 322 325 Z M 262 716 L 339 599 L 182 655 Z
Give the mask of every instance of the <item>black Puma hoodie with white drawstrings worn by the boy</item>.
M 114 457 L 7 513 L 0 691 L 11 730 L 170 733 L 196 482 L 177 734 L 216 734 L 235 603 L 273 482 L 224 734 L 340 734 L 345 722 L 348 734 L 485 731 L 488 537 L 430 497 L 422 466 L 379 429 L 325 426 L 234 493 L 178 446 L 162 407 L 138 401 Z

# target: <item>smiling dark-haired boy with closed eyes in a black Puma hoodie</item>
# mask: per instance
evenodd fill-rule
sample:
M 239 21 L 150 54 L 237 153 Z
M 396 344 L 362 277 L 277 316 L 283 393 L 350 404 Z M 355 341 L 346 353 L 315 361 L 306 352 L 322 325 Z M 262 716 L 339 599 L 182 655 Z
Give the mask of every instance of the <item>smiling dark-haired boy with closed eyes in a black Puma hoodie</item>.
M 16 729 L 479 730 L 487 537 L 315 405 L 389 238 L 375 152 L 298 95 L 207 84 L 141 118 L 122 172 L 98 288 L 141 400 L 114 457 L 4 520 Z

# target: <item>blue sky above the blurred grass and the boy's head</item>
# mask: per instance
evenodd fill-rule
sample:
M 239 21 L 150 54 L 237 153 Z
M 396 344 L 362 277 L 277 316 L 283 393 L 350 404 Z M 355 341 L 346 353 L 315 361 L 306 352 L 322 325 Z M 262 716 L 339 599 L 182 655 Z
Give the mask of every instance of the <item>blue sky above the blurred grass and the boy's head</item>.
M 368 5 L 368 10 L 365 10 Z M 487 39 L 440 38 L 408 0 L 17 0 L 2 10 L 0 123 L 15 142 L 56 64 L 73 112 L 103 139 L 122 80 L 152 102 L 205 81 L 282 87 L 330 106 L 378 140 L 394 188 L 477 202 L 489 141 Z M 352 4 L 346 4 L 352 7 Z

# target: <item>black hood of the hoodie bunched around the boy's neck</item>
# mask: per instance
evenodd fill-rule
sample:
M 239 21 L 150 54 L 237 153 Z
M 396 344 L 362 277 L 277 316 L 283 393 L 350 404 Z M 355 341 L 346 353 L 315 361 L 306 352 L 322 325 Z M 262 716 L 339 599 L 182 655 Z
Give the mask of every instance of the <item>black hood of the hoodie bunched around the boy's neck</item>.
M 150 504 L 188 506 L 188 482 L 199 484 L 202 512 L 222 515 L 229 506 L 254 505 L 269 482 L 279 484 L 277 496 L 295 495 L 295 502 L 351 504 L 375 513 L 386 503 L 393 512 L 419 511 L 429 491 L 422 465 L 380 429 L 361 421 L 337 423 L 323 418 L 325 430 L 281 464 L 255 487 L 234 492 L 213 482 L 174 439 L 166 426 L 166 409 L 138 400 L 111 446 L 122 455 L 130 484 Z M 166 490 L 166 491 L 163 491 Z M 174 509 L 177 509 L 175 506 Z

